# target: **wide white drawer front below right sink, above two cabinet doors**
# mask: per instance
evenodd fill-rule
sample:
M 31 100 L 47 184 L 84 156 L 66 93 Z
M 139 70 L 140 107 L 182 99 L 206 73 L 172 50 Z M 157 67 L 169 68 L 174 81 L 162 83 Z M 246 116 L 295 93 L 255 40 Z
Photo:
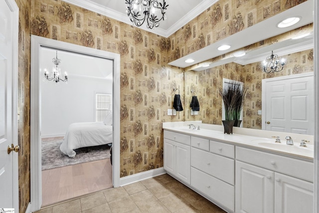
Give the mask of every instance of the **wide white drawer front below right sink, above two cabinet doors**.
M 236 160 L 314 182 L 314 164 L 311 162 L 237 146 Z

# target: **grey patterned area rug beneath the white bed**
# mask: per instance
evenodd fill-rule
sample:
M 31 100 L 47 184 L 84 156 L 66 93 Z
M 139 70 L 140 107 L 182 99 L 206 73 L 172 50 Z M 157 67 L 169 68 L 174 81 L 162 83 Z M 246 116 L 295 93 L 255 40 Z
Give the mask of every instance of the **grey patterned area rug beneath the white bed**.
M 69 158 L 60 151 L 63 140 L 42 142 L 42 171 L 110 158 L 110 146 L 101 145 L 74 150 L 76 156 Z

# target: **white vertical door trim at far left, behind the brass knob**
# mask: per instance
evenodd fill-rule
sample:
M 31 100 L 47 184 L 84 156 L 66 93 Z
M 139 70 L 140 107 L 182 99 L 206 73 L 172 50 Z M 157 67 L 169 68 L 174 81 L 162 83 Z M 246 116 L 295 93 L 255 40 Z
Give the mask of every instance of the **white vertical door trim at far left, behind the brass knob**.
M 12 73 L 11 82 L 11 104 L 12 104 L 12 143 L 18 144 L 18 33 L 19 33 L 19 8 L 15 0 L 5 0 L 12 13 Z M 12 156 L 12 203 L 14 211 L 19 212 L 19 166 L 18 154 Z

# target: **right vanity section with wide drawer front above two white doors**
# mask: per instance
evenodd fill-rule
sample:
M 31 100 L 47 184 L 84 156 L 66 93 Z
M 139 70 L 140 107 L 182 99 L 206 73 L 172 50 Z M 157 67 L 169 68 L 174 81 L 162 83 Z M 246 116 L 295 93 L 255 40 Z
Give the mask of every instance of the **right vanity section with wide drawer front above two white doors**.
M 313 174 L 311 162 L 236 147 L 235 212 L 312 213 Z

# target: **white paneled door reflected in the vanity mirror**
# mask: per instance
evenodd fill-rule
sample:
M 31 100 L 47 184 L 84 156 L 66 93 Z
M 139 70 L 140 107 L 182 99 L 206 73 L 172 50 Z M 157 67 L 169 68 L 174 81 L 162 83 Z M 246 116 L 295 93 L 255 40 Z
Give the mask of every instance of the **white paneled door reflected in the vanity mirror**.
M 266 130 L 314 135 L 314 76 L 303 76 L 265 82 Z

